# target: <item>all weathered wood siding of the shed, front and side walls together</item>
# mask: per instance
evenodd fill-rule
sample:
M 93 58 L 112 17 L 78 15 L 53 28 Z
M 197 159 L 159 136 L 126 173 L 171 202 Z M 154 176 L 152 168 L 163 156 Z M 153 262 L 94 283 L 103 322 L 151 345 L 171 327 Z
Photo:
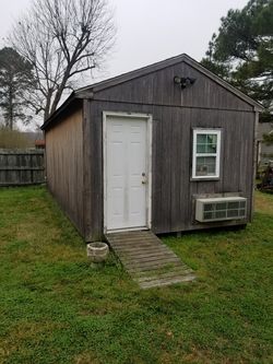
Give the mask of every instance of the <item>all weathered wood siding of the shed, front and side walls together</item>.
M 197 82 L 181 91 L 174 84 L 175 75 L 195 78 Z M 194 198 L 204 195 L 247 197 L 244 222 L 251 220 L 253 105 L 187 62 L 97 91 L 92 97 L 80 108 L 79 101 L 73 101 L 60 114 L 62 119 L 57 116 L 56 126 L 46 131 L 48 186 L 87 242 L 104 236 L 103 111 L 153 117 L 153 232 L 237 224 L 197 223 Z M 222 129 L 218 180 L 191 179 L 193 128 Z

